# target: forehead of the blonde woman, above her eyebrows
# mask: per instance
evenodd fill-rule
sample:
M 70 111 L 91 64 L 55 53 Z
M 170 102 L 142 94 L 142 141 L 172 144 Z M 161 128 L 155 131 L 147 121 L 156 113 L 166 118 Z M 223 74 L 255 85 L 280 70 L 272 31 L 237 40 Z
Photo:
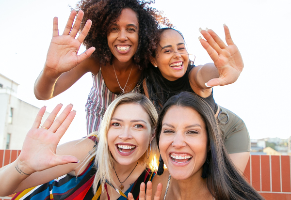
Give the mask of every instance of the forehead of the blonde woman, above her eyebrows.
M 119 105 L 113 112 L 112 117 L 124 120 L 142 119 L 146 122 L 149 121 L 148 113 L 141 105 L 137 103 L 126 103 Z

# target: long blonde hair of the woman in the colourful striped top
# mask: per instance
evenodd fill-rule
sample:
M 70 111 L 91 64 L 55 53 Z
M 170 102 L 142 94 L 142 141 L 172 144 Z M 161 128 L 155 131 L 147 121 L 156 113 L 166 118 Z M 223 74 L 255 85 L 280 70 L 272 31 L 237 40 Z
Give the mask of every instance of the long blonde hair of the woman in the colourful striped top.
M 102 190 L 104 190 L 104 185 L 107 182 L 110 182 L 115 187 L 118 187 L 113 182 L 113 156 L 109 150 L 108 147 L 108 139 L 107 134 L 108 130 L 110 128 L 111 118 L 113 116 L 113 113 L 115 109 L 122 104 L 138 104 L 140 105 L 148 114 L 149 121 L 151 125 L 151 134 L 155 133 L 155 128 L 157 125 L 158 120 L 158 113 L 154 107 L 154 105 L 151 103 L 151 101 L 143 94 L 140 93 L 127 93 L 124 94 L 117 99 L 115 99 L 107 108 L 103 120 L 100 125 L 100 131 L 97 133 L 92 133 L 94 135 L 98 136 L 98 145 L 92 150 L 92 156 L 90 156 L 89 159 L 91 159 L 93 156 L 95 156 L 95 163 L 94 166 L 97 168 L 93 188 L 94 192 L 97 191 L 97 185 L 99 182 L 101 182 Z M 150 147 L 148 147 L 148 152 L 150 150 Z M 151 169 L 154 169 L 155 164 L 157 163 L 158 157 L 159 157 L 159 150 L 158 145 L 155 139 L 151 141 L 151 152 L 149 155 L 149 158 L 146 158 L 146 152 L 142 155 L 142 157 L 139 159 L 139 161 L 143 164 L 143 166 L 149 167 Z

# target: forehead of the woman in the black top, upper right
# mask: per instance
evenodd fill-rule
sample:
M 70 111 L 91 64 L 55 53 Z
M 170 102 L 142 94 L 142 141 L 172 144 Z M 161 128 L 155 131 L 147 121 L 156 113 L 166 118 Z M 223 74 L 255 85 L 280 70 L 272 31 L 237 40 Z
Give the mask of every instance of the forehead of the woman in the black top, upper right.
M 161 39 L 160 39 L 160 45 L 166 46 L 170 44 L 178 44 L 178 43 L 185 43 L 182 35 L 178 33 L 178 31 L 169 29 L 162 32 Z

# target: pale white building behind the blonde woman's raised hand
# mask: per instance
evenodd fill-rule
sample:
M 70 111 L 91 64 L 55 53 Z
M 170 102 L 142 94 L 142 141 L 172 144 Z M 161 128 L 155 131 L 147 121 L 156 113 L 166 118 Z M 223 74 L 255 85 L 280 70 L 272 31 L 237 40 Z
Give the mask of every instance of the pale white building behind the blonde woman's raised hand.
M 39 111 L 17 98 L 18 85 L 0 74 L 0 149 L 21 149 Z M 48 116 L 46 112 L 44 118 Z

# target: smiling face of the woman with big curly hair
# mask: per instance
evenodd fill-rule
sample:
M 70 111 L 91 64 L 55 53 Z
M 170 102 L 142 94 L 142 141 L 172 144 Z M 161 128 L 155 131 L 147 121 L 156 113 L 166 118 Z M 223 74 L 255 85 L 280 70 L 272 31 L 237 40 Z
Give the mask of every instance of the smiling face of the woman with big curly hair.
M 139 21 L 136 13 L 125 8 L 111 25 L 107 36 L 113 56 L 120 62 L 128 62 L 136 52 L 139 39 Z

